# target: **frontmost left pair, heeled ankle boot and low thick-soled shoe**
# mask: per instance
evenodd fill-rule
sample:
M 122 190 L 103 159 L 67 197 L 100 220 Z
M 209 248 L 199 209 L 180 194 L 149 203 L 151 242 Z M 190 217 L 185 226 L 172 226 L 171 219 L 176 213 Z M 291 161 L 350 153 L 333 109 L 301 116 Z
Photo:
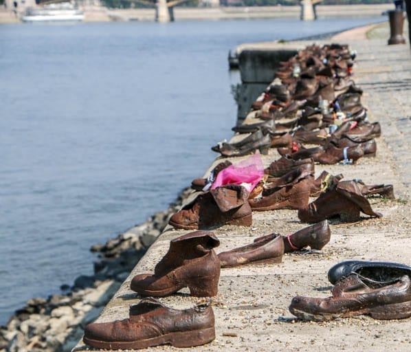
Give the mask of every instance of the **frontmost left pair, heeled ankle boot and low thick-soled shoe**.
M 131 289 L 145 296 L 163 297 L 189 287 L 192 296 L 215 296 L 220 261 L 212 232 L 196 231 L 173 239 L 154 274 L 140 274 Z M 99 349 L 145 349 L 160 344 L 194 347 L 215 338 L 214 313 L 208 303 L 190 309 L 170 309 L 157 299 L 144 298 L 129 309 L 129 318 L 86 326 L 83 342 Z

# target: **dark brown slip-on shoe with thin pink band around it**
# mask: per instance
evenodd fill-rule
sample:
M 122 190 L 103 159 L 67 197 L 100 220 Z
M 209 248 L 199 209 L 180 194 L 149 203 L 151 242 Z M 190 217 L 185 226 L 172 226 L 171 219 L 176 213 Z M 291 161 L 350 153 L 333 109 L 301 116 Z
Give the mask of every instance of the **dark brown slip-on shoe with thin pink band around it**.
M 284 252 L 289 253 L 306 247 L 311 248 L 311 250 L 321 250 L 324 245 L 329 243 L 330 238 L 329 223 L 323 220 L 288 236 L 282 236 Z

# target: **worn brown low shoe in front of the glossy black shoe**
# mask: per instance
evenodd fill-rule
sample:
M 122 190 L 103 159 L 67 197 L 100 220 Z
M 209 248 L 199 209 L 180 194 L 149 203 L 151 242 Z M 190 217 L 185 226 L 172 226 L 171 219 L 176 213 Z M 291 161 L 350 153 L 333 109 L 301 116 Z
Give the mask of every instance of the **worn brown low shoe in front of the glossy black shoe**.
M 350 280 L 348 276 L 344 280 Z M 362 285 L 359 285 L 364 281 Z M 297 296 L 291 300 L 289 311 L 302 320 L 330 320 L 360 315 L 375 319 L 403 319 L 411 316 L 410 276 L 402 276 L 395 283 L 365 281 L 360 278 L 353 283 L 351 294 L 337 294 L 328 298 Z M 350 290 L 346 285 L 344 290 Z M 373 288 L 373 289 L 370 289 Z

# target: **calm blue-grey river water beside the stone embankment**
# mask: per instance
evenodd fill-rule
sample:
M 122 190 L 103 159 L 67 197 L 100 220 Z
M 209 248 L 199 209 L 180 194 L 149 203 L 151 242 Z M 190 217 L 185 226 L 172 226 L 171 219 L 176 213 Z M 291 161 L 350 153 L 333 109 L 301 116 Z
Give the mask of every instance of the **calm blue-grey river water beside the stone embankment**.
M 375 21 L 1 25 L 0 323 L 203 175 L 236 121 L 228 50 Z

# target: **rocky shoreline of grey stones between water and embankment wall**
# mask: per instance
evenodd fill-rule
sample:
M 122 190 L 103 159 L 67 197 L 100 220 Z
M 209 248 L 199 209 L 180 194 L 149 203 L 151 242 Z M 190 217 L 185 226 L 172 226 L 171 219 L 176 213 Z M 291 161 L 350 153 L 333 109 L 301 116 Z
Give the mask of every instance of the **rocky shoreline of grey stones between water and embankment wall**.
M 81 275 L 62 293 L 32 298 L 0 327 L 0 352 L 68 352 L 76 346 L 85 325 L 95 320 L 113 294 L 162 233 L 168 218 L 181 208 L 192 190 L 182 190 L 177 199 L 144 223 L 107 241 L 93 245 L 98 253 L 91 276 Z

